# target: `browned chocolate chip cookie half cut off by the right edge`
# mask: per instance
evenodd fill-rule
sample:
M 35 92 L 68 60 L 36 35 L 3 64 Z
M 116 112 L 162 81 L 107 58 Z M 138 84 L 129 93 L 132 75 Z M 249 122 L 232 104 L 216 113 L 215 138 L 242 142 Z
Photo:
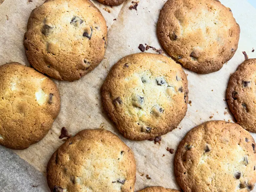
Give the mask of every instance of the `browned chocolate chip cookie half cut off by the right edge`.
M 256 133 L 256 59 L 248 59 L 231 75 L 226 100 L 237 123 L 247 131 Z

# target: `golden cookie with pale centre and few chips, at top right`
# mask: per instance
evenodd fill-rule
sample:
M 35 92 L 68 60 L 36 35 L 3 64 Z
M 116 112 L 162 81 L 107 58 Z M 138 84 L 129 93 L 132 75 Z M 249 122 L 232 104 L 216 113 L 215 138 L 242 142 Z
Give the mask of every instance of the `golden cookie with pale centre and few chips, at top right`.
M 235 54 L 240 27 L 229 8 L 216 0 L 168 0 L 157 34 L 169 55 L 191 71 L 218 71 Z

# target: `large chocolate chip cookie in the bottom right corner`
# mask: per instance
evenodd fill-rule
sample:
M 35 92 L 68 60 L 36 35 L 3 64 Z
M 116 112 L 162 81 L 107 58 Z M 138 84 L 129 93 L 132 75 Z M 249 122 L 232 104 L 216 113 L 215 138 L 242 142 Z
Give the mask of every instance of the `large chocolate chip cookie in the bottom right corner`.
M 208 121 L 180 142 L 174 170 L 184 192 L 246 192 L 256 181 L 255 141 L 235 123 Z

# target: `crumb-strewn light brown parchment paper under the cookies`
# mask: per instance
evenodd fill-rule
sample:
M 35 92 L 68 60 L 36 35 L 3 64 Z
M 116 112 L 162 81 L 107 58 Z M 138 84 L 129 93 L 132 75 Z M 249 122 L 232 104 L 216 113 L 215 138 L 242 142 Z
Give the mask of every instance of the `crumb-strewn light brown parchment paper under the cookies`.
M 15 150 L 21 158 L 28 161 L 39 171 L 45 173 L 47 162 L 52 153 L 63 143 L 58 139 L 60 130 L 65 126 L 75 135 L 82 129 L 103 128 L 117 134 L 133 151 L 137 161 L 136 190 L 146 186 L 161 185 L 179 189 L 173 171 L 174 154 L 166 151 L 166 147 L 175 151 L 181 139 L 194 126 L 208 120 L 231 120 L 225 99 L 225 91 L 230 74 L 235 72 L 244 61 L 242 51 L 249 58 L 256 57 L 256 10 L 245 0 L 222 0 L 230 7 L 241 28 L 240 42 L 234 57 L 224 67 L 207 75 L 199 75 L 184 69 L 188 74 L 189 100 L 188 111 L 179 127 L 162 136 L 161 144 L 153 141 L 131 141 L 122 137 L 115 125 L 103 113 L 100 87 L 111 67 L 122 57 L 140 52 L 139 44 L 148 44 L 160 48 L 156 35 L 159 11 L 166 0 L 140 0 L 138 11 L 130 10 L 132 0 L 111 8 L 94 1 L 102 12 L 108 26 L 108 44 L 105 58 L 96 69 L 78 81 L 56 81 L 61 95 L 61 110 L 55 119 L 52 129 L 40 142 L 26 150 Z M 0 6 L 0 65 L 7 62 L 20 62 L 29 66 L 23 48 L 23 36 L 29 15 L 44 0 L 5 0 Z M 110 13 L 104 8 L 110 10 Z M 116 20 L 113 20 L 116 19 Z M 156 53 L 149 49 L 146 52 Z M 225 115 L 224 112 L 227 112 Z M 213 116 L 211 119 L 210 116 Z M 252 134 L 256 139 L 256 134 Z M 163 156 L 165 154 L 165 156 Z M 0 157 L 1 160 L 1 157 Z M 141 176 L 144 174 L 143 176 Z M 151 179 L 147 179 L 145 175 Z M 47 183 L 45 182 L 45 185 Z M 256 191 L 256 189 L 254 189 Z

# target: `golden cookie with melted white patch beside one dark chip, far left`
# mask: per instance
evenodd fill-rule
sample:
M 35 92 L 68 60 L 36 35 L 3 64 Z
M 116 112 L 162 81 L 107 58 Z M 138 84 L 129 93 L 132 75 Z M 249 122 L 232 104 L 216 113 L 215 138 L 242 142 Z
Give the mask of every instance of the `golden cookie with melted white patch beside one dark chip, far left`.
M 0 66 L 0 144 L 26 149 L 49 131 L 60 110 L 55 83 L 19 63 Z

